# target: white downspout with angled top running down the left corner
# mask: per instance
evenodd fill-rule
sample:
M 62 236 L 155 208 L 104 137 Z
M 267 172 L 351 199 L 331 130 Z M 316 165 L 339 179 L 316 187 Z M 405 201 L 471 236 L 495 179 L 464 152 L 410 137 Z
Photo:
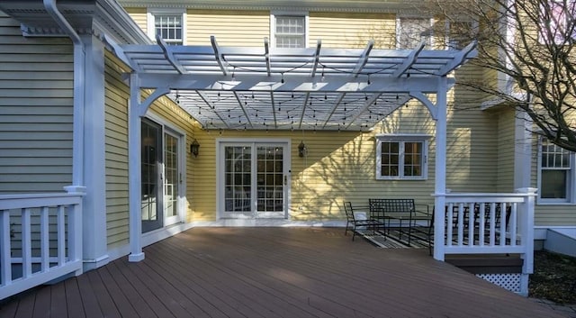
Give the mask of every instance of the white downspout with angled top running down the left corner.
M 68 193 L 85 193 L 84 186 L 84 74 L 85 45 L 82 39 L 58 11 L 56 0 L 43 0 L 44 7 L 74 44 L 74 114 L 72 137 L 72 186 L 65 186 Z

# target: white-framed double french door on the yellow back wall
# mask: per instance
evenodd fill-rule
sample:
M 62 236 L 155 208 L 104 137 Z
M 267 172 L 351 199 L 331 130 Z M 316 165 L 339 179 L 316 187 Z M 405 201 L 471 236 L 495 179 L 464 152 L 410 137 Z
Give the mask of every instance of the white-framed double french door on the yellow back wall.
M 220 218 L 286 218 L 287 142 L 220 143 Z

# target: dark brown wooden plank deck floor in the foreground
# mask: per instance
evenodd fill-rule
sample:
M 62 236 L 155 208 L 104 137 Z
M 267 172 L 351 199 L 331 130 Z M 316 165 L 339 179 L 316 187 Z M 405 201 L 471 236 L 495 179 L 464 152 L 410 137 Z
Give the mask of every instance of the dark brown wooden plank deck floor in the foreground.
M 16 295 L 0 317 L 561 317 L 428 249 L 343 229 L 194 228 L 144 251 Z

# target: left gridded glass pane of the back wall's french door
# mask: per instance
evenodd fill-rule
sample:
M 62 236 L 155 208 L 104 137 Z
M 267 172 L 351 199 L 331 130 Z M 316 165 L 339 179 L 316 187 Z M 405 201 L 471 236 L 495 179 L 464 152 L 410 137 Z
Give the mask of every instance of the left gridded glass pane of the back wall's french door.
M 224 148 L 224 205 L 226 212 L 250 212 L 251 147 Z

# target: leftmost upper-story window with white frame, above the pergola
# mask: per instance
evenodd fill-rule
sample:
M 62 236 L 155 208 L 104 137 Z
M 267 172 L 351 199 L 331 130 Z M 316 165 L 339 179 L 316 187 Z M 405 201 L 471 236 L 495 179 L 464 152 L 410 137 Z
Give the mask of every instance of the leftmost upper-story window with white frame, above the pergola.
M 184 44 L 184 14 L 174 11 L 150 11 L 148 36 L 156 40 L 159 34 L 168 45 Z

